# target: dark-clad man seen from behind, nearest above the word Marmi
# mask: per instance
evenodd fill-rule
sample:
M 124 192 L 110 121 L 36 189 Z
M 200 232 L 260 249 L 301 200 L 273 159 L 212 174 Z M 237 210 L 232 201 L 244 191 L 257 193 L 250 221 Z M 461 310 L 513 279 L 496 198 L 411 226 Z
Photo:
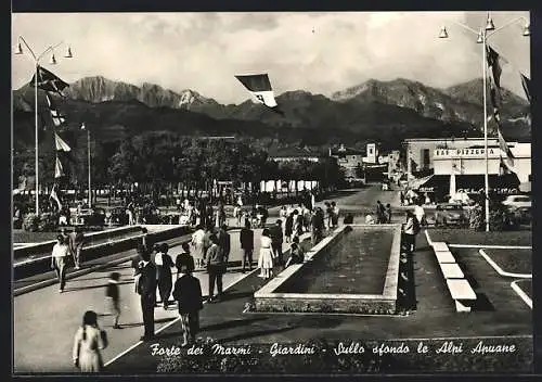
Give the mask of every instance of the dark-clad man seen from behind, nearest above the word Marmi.
M 178 268 L 179 278 L 175 283 L 173 298 L 177 301 L 181 317 L 183 343 L 182 347 L 195 342 L 199 330 L 199 310 L 203 309 L 202 285 L 192 276 L 190 264 L 181 263 Z

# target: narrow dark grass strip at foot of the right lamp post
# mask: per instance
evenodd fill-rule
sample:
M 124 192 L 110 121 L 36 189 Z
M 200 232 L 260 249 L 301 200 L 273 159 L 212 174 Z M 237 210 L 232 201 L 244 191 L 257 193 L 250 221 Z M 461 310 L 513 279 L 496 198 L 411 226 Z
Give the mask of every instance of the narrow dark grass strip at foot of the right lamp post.
M 479 232 L 472 229 L 428 229 L 433 241 L 449 244 L 475 245 L 532 245 L 531 230 Z

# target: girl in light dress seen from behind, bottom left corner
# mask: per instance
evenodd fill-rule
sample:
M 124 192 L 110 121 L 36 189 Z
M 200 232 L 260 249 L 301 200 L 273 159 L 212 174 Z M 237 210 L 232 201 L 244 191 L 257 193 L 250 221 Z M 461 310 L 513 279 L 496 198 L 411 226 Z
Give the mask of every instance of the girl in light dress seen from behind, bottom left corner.
M 100 351 L 107 346 L 105 332 L 98 326 L 98 315 L 88 310 L 82 317 L 82 326 L 74 340 L 74 365 L 81 372 L 99 372 L 103 368 Z

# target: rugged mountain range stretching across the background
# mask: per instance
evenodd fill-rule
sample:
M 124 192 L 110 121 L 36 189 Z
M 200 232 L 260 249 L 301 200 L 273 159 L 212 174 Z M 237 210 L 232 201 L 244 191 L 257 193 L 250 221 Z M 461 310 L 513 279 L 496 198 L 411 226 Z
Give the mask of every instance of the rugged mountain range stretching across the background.
M 63 96 L 55 100 L 67 116 L 68 128 L 85 122 L 105 141 L 173 130 L 304 145 L 377 140 L 397 148 L 404 138 L 480 136 L 483 124 L 481 79 L 447 89 L 404 78 L 371 79 L 331 97 L 287 91 L 276 97 L 284 115 L 249 100 L 224 105 L 194 90 L 175 92 L 154 84 L 134 86 L 101 76 L 70 84 Z M 504 137 L 530 140 L 528 102 L 506 89 L 502 99 Z M 24 147 L 33 142 L 34 89 L 15 90 L 13 101 L 14 141 Z M 43 97 L 39 102 L 40 109 L 47 106 Z M 47 119 L 43 124 L 48 125 Z

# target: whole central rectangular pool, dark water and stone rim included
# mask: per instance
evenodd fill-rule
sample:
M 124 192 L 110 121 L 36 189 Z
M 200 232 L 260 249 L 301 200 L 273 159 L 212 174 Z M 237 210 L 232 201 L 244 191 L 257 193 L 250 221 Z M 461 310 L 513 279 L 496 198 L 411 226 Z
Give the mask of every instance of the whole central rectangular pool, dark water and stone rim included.
M 350 225 L 255 293 L 256 311 L 393 314 L 401 226 Z

